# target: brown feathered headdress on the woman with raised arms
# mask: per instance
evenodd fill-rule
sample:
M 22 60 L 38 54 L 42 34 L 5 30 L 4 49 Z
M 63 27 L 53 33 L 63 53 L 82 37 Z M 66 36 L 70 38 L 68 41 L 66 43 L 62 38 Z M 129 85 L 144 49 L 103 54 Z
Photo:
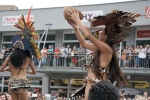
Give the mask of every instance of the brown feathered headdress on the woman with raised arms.
M 141 14 L 113 10 L 111 13 L 104 16 L 96 16 L 89 21 L 91 23 L 91 28 L 105 25 L 105 31 L 108 35 L 108 39 L 110 39 L 113 44 L 118 44 L 130 35 L 129 31 L 131 29 L 131 25 L 136 22 L 139 16 L 141 16 Z M 96 37 L 98 36 L 99 30 L 101 29 L 98 29 L 95 33 Z

